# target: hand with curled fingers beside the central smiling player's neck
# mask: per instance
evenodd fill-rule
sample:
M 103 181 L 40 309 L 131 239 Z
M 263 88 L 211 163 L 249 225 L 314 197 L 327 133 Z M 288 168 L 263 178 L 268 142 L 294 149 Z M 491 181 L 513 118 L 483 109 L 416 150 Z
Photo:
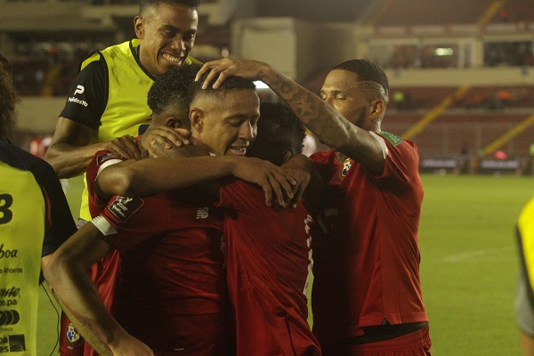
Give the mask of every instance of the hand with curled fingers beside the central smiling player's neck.
M 150 157 L 158 157 L 162 150 L 171 150 L 174 147 L 189 144 L 190 131 L 184 128 L 168 126 L 150 127 L 141 137 L 141 144 L 149 151 Z

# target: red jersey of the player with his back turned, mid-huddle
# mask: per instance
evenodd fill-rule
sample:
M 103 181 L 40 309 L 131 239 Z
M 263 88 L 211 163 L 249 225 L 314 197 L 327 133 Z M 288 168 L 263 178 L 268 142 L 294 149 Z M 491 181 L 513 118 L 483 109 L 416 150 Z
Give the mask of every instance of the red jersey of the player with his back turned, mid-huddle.
M 307 322 L 312 217 L 265 206 L 263 190 L 223 184 L 227 284 L 237 325 L 238 355 L 320 355 Z

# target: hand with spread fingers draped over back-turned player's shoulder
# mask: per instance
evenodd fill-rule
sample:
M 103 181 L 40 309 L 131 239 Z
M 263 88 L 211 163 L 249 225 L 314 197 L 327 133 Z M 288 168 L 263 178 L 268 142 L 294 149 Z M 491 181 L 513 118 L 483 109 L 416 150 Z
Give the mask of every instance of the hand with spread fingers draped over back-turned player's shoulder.
M 267 206 L 271 206 L 273 200 L 279 206 L 287 206 L 286 202 L 293 198 L 296 181 L 282 168 L 269 161 L 259 158 L 239 158 L 235 162 L 233 175 L 262 187 Z

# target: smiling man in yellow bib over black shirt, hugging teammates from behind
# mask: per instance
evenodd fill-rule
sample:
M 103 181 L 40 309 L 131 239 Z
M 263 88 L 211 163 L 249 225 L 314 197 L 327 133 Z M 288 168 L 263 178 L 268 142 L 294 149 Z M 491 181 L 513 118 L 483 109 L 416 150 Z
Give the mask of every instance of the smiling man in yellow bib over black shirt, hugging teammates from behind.
M 135 137 L 150 124 L 150 86 L 168 69 L 199 63 L 189 56 L 197 26 L 198 0 L 141 0 L 134 18 L 137 38 L 82 62 L 46 152 L 60 178 L 85 173 L 98 150 L 140 158 Z M 178 134 L 172 140 L 181 144 Z M 80 217 L 81 223 L 91 218 L 86 189 Z M 63 321 L 63 326 L 68 323 Z M 73 350 L 82 349 L 82 344 L 65 340 L 66 334 L 61 332 L 61 351 L 77 354 Z

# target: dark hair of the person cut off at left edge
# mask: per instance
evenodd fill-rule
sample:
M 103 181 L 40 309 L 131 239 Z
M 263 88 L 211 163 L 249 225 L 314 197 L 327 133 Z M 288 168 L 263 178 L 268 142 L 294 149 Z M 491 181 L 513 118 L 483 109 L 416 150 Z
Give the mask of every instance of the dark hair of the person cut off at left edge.
M 12 82 L 11 66 L 4 54 L 0 53 L 0 137 L 11 132 L 16 102 L 17 92 Z

